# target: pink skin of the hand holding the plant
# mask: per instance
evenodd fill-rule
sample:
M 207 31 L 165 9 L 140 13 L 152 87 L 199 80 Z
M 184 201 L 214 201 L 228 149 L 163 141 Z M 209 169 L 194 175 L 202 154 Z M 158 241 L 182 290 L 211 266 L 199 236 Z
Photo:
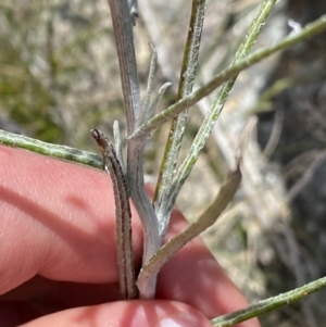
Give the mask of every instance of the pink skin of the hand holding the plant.
M 131 211 L 139 268 L 142 228 Z M 248 305 L 199 237 L 162 268 L 155 300 L 118 301 L 114 216 L 103 172 L 0 146 L 1 327 L 205 327 Z M 174 211 L 166 239 L 186 226 Z

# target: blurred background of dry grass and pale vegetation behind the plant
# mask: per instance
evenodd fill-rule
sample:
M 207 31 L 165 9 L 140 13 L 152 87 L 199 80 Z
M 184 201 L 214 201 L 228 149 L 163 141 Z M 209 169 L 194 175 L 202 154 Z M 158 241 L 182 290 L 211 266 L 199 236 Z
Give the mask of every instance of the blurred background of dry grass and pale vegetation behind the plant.
M 225 67 L 254 17 L 259 0 L 208 0 L 196 87 Z M 135 30 L 143 95 L 150 62 L 159 55 L 156 90 L 172 86 L 172 104 L 187 37 L 190 2 L 139 0 Z M 280 0 L 255 48 L 326 13 L 323 0 Z M 297 25 L 296 25 L 297 24 Z M 241 73 L 214 134 L 187 180 L 178 205 L 189 221 L 213 199 L 233 166 L 239 135 L 256 127 L 243 162 L 243 183 L 229 210 L 203 236 L 250 301 L 325 275 L 326 35 L 319 35 Z M 191 109 L 181 156 L 210 108 Z M 0 128 L 43 141 L 97 151 L 92 126 L 111 134 L 124 109 L 108 3 L 104 0 L 2 0 L 0 3 Z M 254 122 L 254 121 L 253 121 Z M 146 150 L 155 181 L 168 124 Z M 326 326 L 325 291 L 261 318 L 263 326 Z M 229 299 L 229 301 L 233 301 Z

